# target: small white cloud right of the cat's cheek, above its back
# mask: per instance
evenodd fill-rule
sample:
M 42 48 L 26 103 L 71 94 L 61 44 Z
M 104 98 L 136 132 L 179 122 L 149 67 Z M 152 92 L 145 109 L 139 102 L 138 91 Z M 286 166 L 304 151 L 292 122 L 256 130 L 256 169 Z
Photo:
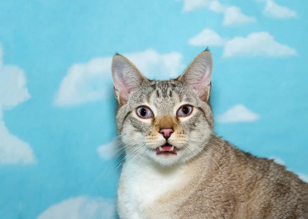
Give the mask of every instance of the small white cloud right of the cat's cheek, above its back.
M 221 123 L 253 122 L 257 119 L 259 119 L 259 115 L 249 111 L 242 104 L 229 108 L 224 114 L 217 117 L 217 121 Z

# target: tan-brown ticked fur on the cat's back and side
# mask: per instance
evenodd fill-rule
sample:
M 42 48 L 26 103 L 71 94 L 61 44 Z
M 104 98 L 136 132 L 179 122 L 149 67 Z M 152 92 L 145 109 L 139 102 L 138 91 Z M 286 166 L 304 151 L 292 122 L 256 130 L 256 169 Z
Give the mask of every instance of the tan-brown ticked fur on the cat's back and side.
M 273 160 L 253 157 L 218 137 L 211 141 L 216 145 L 207 151 L 211 159 L 204 154 L 190 162 L 193 177 L 153 203 L 156 209 L 171 205 L 168 218 L 174 219 L 308 218 L 308 184 Z

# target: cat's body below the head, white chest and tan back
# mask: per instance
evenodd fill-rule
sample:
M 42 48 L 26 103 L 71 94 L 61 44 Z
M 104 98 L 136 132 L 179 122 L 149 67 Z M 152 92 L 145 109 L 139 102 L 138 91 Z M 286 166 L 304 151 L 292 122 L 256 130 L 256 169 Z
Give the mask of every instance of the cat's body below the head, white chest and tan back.
M 174 169 L 127 158 L 118 192 L 120 217 L 307 218 L 308 185 L 294 173 L 219 138 L 213 143 L 217 148 L 208 155 Z

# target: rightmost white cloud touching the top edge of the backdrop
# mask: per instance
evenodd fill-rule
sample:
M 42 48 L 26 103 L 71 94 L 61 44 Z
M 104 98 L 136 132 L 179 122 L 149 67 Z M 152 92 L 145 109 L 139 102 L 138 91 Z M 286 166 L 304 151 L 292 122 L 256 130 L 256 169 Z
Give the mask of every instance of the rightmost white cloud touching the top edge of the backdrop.
M 256 0 L 258 2 L 266 2 L 264 8 L 264 14 L 269 17 L 277 19 L 295 18 L 297 17 L 296 11 L 284 6 L 280 6 L 273 0 Z

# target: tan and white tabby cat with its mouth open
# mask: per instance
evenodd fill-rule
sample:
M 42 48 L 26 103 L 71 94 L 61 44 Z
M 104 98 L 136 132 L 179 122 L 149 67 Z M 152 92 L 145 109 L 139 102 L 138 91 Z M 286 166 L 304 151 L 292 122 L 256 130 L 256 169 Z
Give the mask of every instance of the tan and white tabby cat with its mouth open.
M 159 81 L 113 57 L 115 119 L 126 153 L 120 218 L 308 218 L 307 183 L 214 133 L 212 66 L 205 50 L 180 77 Z

